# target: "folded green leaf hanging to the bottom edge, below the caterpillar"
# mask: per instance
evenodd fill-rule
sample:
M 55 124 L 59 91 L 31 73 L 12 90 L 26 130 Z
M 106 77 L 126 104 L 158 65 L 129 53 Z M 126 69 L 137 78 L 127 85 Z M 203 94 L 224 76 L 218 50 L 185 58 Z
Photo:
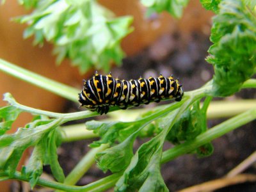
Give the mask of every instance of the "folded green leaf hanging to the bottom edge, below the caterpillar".
M 163 135 L 143 143 L 116 183 L 115 191 L 168 191 L 160 173 Z

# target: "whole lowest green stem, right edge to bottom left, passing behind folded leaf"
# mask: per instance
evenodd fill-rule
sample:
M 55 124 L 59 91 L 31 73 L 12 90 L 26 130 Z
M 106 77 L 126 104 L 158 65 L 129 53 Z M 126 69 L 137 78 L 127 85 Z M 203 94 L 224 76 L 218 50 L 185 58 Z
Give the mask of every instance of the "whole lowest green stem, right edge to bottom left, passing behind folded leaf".
M 204 143 L 212 141 L 215 138 L 218 138 L 223 134 L 226 134 L 227 132 L 236 129 L 237 127 L 240 127 L 241 125 L 247 124 L 248 122 L 251 122 L 255 118 L 256 118 L 256 109 L 251 109 L 250 111 L 246 111 L 240 115 L 234 116 L 233 118 L 230 118 L 229 120 L 219 125 L 216 125 L 215 127 L 212 127 L 212 129 L 209 129 L 209 131 L 206 131 L 203 134 L 200 134 L 200 136 L 198 136 L 195 140 L 186 141 L 185 143 L 182 143 L 174 148 L 171 148 L 170 150 L 166 150 L 165 152 L 163 152 L 161 163 L 166 163 L 172 159 L 175 159 L 175 157 L 179 157 L 183 154 L 187 154 L 188 152 L 191 152 L 196 148 L 200 147 Z M 42 179 L 39 179 L 37 184 L 40 186 L 45 186 L 49 188 L 61 189 L 63 191 L 100 191 L 100 190 L 102 191 L 103 189 L 107 189 L 114 186 L 115 182 L 119 179 L 121 175 L 122 173 L 116 173 L 108 177 L 105 177 L 104 179 L 100 179 L 97 182 L 93 182 L 91 184 L 88 184 L 86 186 L 81 186 L 81 187 L 68 186 L 66 184 L 61 184 L 58 182 L 52 182 L 52 181 L 47 181 Z M 5 174 L 5 175 L 2 174 L 0 176 L 6 177 L 8 176 L 8 174 Z M 29 181 L 28 178 L 20 175 L 20 173 L 15 173 L 12 179 Z

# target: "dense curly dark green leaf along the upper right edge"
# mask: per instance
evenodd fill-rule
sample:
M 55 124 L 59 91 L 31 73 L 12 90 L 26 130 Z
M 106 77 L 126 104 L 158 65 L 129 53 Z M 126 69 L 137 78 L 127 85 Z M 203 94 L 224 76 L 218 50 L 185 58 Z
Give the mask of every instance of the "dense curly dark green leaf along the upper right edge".
M 256 19 L 244 1 L 223 0 L 213 19 L 207 61 L 214 65 L 212 95 L 238 92 L 256 71 Z

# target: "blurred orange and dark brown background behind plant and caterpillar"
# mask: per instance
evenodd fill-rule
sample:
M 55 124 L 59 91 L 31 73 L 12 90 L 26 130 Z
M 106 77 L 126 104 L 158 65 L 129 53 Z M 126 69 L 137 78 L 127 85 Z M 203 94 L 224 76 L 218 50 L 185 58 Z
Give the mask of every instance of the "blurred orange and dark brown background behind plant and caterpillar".
M 179 77 L 185 91 L 199 88 L 212 78 L 212 66 L 205 62 L 205 57 L 211 45 L 209 35 L 213 13 L 205 11 L 199 1 L 191 0 L 179 20 L 173 19 L 168 13 L 146 18 L 145 7 L 135 0 L 99 2 L 113 11 L 116 16 L 134 17 L 132 23 L 134 31 L 122 41 L 122 49 L 127 56 L 121 67 L 116 67 L 115 63 L 111 67 L 114 77 L 137 79 L 140 76 L 158 76 L 160 73 L 163 76 L 173 74 L 174 77 Z M 22 33 L 26 24 L 13 22 L 11 19 L 26 13 L 29 12 L 15 0 L 6 1 L 0 6 L 0 58 L 80 90 L 83 86 L 82 80 L 91 77 L 95 68 L 86 74 L 81 74 L 76 67 L 70 65 L 70 60 L 64 60 L 61 65 L 56 65 L 51 44 L 45 42 L 43 47 L 39 47 L 33 46 L 33 38 L 24 40 Z M 101 71 L 100 73 L 104 74 Z M 0 72 L 0 95 L 6 92 L 12 93 L 20 104 L 33 108 L 61 113 L 81 110 L 78 109 L 78 103 L 70 102 Z M 254 96 L 255 93 L 243 91 L 235 97 Z M 5 104 L 1 99 L 0 106 Z M 22 127 L 29 120 L 31 120 L 30 115 L 22 114 L 14 126 Z M 218 124 L 218 120 L 211 120 L 209 127 L 215 124 Z M 213 142 L 215 152 L 211 157 L 197 159 L 195 156 L 182 156 L 164 164 L 162 173 L 166 186 L 170 191 L 175 191 L 222 177 L 255 150 L 255 135 L 253 124 L 249 124 L 244 129 L 230 132 L 215 140 Z M 140 145 L 143 141 L 137 142 Z M 59 159 L 66 174 L 89 150 L 88 143 L 90 141 L 76 141 L 61 145 Z M 50 171 L 45 168 L 45 172 Z M 85 185 L 102 176 L 103 173 L 95 167 L 78 184 Z M 10 181 L 4 182 L 4 184 L 10 183 Z M 2 184 L 3 182 L 1 186 Z M 20 186 L 17 186 L 19 183 L 13 182 L 12 191 L 19 190 Z M 248 191 L 256 190 L 256 184 L 246 184 L 246 186 Z M 223 191 L 241 189 L 245 189 L 244 186 L 223 189 Z M 8 190 L 9 186 L 6 186 L 4 191 Z

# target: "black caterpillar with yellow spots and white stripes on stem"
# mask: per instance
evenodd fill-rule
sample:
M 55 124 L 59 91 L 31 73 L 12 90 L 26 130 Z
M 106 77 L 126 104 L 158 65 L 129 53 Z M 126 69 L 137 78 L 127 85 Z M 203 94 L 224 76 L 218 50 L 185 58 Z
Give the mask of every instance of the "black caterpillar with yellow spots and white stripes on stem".
M 163 99 L 180 101 L 183 95 L 181 87 L 172 76 L 125 81 L 114 79 L 111 73 L 102 76 L 96 72 L 91 79 L 84 80 L 79 102 L 86 109 L 102 115 L 108 113 L 109 106 L 127 109 L 128 106 L 140 106 Z

